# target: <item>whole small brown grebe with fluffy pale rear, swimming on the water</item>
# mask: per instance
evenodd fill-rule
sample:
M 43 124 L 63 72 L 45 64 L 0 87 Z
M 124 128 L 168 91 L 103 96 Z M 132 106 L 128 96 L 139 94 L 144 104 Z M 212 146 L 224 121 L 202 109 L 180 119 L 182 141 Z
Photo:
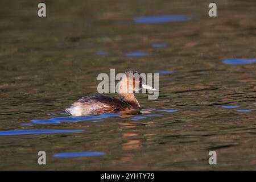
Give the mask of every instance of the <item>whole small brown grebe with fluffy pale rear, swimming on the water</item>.
M 128 71 L 121 77 L 118 83 L 119 95 L 121 100 L 109 96 L 85 96 L 74 102 L 71 107 L 66 109 L 68 114 L 79 116 L 86 114 L 113 113 L 125 109 L 136 109 L 141 107 L 134 96 L 134 92 L 141 89 L 155 90 L 151 86 L 142 84 L 142 78 L 135 79 L 129 73 L 135 74 L 137 71 Z M 129 92 L 131 89 L 131 92 Z

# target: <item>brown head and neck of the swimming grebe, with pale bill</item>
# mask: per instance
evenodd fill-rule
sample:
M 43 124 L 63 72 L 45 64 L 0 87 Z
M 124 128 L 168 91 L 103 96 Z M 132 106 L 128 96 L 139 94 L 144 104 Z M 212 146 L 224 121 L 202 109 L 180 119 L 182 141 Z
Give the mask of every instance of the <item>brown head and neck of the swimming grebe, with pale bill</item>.
M 155 90 L 144 83 L 145 81 L 143 77 L 141 77 L 141 73 L 134 70 L 125 72 L 118 82 L 118 92 L 121 100 L 133 107 L 140 107 L 139 102 L 134 96 L 134 92 L 138 92 L 142 87 L 144 89 Z

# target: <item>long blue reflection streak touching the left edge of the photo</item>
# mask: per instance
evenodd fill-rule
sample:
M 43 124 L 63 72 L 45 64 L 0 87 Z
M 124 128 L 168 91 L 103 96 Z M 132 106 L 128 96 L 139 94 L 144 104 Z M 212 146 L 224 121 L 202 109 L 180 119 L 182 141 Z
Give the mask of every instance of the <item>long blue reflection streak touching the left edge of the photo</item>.
M 0 136 L 8 135 L 27 135 L 27 134 L 46 134 L 46 133 L 76 133 L 84 130 L 9 130 L 0 131 Z

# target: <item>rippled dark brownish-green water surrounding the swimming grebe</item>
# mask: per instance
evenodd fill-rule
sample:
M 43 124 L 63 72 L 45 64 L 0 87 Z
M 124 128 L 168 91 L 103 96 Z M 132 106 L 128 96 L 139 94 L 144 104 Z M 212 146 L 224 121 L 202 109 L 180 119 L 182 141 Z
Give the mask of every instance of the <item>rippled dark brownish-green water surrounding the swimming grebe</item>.
M 46 18 L 39 2 L 0 2 L 0 169 L 255 170 L 255 1 L 216 1 L 216 18 L 211 1 L 44 1 Z M 191 19 L 134 22 L 155 15 Z M 235 58 L 253 61 L 223 62 Z M 141 114 L 33 122 L 68 117 L 64 109 L 97 94 L 97 75 L 110 68 L 173 73 L 160 74 L 158 100 L 137 96 Z M 239 107 L 222 107 L 230 105 Z M 217 165 L 208 164 L 212 150 Z M 104 155 L 54 156 L 63 152 Z

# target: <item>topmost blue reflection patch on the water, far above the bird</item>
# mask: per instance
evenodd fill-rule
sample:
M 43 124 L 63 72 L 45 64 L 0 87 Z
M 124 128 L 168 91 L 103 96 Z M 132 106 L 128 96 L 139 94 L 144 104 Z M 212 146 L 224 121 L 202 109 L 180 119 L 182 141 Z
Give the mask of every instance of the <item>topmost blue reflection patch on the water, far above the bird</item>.
M 134 23 L 165 23 L 181 22 L 190 20 L 191 15 L 161 15 L 161 16 L 141 16 L 134 18 Z

